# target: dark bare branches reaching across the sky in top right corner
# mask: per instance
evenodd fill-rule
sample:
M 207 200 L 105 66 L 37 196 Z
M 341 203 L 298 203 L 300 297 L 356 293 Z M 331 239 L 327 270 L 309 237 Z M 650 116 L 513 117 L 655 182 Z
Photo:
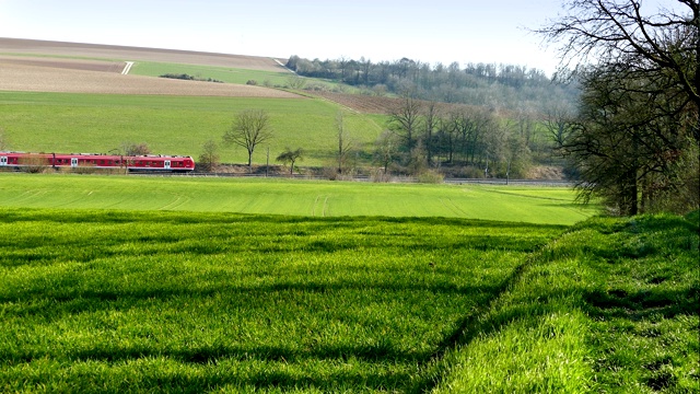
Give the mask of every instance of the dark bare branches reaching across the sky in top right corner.
M 633 86 L 640 92 L 676 92 L 679 107 L 669 109 L 692 113 L 700 144 L 700 2 L 673 3 L 653 11 L 641 0 L 567 0 L 569 14 L 536 32 L 561 44 L 563 67 L 593 62 L 615 68 L 618 79 L 642 81 Z

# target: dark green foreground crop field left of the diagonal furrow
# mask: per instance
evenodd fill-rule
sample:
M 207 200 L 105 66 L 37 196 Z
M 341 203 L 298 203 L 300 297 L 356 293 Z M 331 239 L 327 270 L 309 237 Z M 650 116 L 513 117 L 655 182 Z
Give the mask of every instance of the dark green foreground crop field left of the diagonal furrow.
M 80 209 L 0 218 L 1 391 L 402 390 L 564 229 Z

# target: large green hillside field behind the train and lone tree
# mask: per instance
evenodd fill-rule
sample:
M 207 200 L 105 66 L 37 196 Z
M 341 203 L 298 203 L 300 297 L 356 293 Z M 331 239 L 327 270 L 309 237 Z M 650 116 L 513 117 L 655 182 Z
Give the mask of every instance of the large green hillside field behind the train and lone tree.
M 331 165 L 337 149 L 337 105 L 315 99 L 133 96 L 0 92 L 0 127 L 18 151 L 98 152 L 122 142 L 147 142 L 153 153 L 197 158 L 201 146 L 223 134 L 238 112 L 265 109 L 275 138 L 254 153 L 265 163 L 285 147 L 303 148 L 303 165 Z M 384 125 L 376 117 L 346 114 L 346 127 L 360 150 L 371 152 Z M 246 163 L 241 147 L 220 147 L 221 160 Z M 365 154 L 366 155 L 366 154 Z M 363 155 L 361 155 L 363 157 Z

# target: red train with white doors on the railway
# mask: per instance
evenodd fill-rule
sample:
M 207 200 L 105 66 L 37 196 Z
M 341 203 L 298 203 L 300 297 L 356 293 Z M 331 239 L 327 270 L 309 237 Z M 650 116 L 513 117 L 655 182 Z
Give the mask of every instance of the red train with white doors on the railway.
M 195 161 L 190 157 L 114 155 L 95 153 L 23 153 L 0 152 L 0 169 L 22 167 L 106 169 L 131 172 L 190 172 Z

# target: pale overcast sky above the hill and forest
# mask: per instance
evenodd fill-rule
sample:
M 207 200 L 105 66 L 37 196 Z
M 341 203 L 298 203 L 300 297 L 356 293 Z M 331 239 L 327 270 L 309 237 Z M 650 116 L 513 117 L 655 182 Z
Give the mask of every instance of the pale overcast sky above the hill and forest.
M 551 74 L 528 33 L 559 0 L 0 0 L 0 36 L 288 58 L 512 63 Z

